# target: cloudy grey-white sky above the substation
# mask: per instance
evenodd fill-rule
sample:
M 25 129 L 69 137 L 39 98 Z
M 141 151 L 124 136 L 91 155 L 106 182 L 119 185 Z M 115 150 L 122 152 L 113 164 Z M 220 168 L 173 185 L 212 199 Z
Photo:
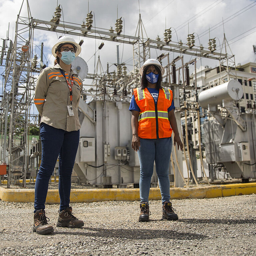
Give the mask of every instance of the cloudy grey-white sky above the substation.
M 26 0 L 25 0 L 26 2 Z M 15 21 L 19 12 L 22 0 L 0 0 L 0 35 L 6 38 L 6 30 L 10 22 L 10 39 L 15 34 Z M 81 24 L 88 13 L 88 0 L 58 0 L 61 4 L 65 22 Z M 139 9 L 140 4 L 140 9 Z M 50 21 L 57 5 L 57 0 L 29 0 L 32 17 L 36 19 Z M 25 7 L 25 8 L 24 8 Z M 27 16 L 26 4 L 22 9 L 22 15 Z M 230 43 L 232 53 L 235 54 L 236 63 L 245 64 L 255 62 L 256 55 L 253 53 L 253 44 L 256 44 L 256 24 L 255 11 L 256 1 L 252 0 L 90 0 L 89 11 L 93 10 L 93 26 L 109 29 L 115 26 L 117 18 L 123 17 L 123 32 L 126 35 L 135 35 L 136 26 L 139 19 L 139 12 L 145 26 L 147 36 L 156 39 L 157 35 L 163 39 L 165 28 L 175 28 L 172 33 L 173 41 L 182 40 L 186 43 L 187 34 L 197 33 L 200 43 L 207 47 L 209 39 L 216 37 L 217 47 L 219 41 L 223 41 L 223 26 L 226 38 Z M 63 15 L 61 17 L 63 20 Z M 96 24 L 95 24 L 96 23 Z M 215 26 L 218 25 L 218 26 Z M 213 29 L 215 28 L 215 29 Z M 196 35 L 196 34 L 195 34 Z M 199 45 L 198 37 L 195 37 L 195 44 Z M 52 66 L 54 58 L 51 56 L 51 47 L 55 44 L 61 34 L 47 32 L 42 30 L 34 31 L 34 44 L 40 46 L 44 43 L 44 54 L 48 61 L 48 66 Z M 82 38 L 74 37 L 77 42 Z M 240 39 L 240 40 L 239 40 Z M 89 73 L 94 72 L 95 46 L 102 41 L 92 38 L 83 38 L 82 57 L 88 64 Z M 103 48 L 96 53 L 106 69 L 107 62 L 116 63 L 116 42 L 104 41 Z M 0 43 L 2 45 L 2 42 Z M 132 70 L 132 46 L 119 44 L 120 61 L 127 64 L 128 70 Z M 39 49 L 36 49 L 39 55 Z M 35 53 L 35 49 L 34 49 Z M 164 51 L 155 51 L 151 49 L 151 58 L 156 58 Z M 177 53 L 171 54 L 171 59 L 178 56 Z M 91 59 L 90 59 L 91 58 Z M 188 60 L 191 56 L 186 57 Z M 90 60 L 89 60 L 90 59 Z M 88 61 L 89 60 L 89 61 Z M 202 60 L 203 65 L 215 67 L 216 62 L 210 62 L 208 59 Z M 114 66 L 111 67 L 114 69 Z M 110 70 L 110 71 L 112 71 Z M 1 69 L 1 73 L 3 69 Z

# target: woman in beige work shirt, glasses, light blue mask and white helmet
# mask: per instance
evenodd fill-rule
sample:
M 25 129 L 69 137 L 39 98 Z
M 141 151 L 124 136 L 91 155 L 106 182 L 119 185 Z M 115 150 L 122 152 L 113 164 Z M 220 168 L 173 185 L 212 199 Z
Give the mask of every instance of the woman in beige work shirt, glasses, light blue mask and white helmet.
M 39 234 L 53 232 L 45 216 L 45 200 L 58 156 L 60 209 L 56 226 L 79 228 L 84 225 L 72 214 L 69 205 L 81 127 L 77 107 L 82 92 L 82 80 L 74 74 L 71 63 L 80 52 L 81 46 L 72 37 L 59 38 L 52 48 L 55 66 L 43 69 L 36 85 L 34 102 L 41 115 L 42 161 L 35 185 L 33 231 Z

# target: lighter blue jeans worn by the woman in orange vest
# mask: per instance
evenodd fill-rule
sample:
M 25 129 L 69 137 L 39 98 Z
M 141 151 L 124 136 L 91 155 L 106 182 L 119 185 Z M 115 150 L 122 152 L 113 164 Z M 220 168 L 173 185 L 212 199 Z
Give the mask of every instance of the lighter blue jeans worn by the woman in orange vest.
M 140 201 L 148 202 L 151 177 L 156 163 L 156 174 L 162 196 L 162 204 L 170 202 L 169 164 L 172 137 L 162 139 L 140 138 Z

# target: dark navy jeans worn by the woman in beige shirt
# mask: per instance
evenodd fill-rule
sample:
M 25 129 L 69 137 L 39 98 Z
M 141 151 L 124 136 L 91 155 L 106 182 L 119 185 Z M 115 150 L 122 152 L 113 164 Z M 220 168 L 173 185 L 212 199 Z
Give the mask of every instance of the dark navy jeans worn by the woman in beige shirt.
M 42 160 L 35 184 L 35 211 L 45 209 L 48 184 L 59 157 L 60 211 L 69 207 L 71 174 L 79 144 L 80 131 L 67 132 L 48 124 L 40 124 Z

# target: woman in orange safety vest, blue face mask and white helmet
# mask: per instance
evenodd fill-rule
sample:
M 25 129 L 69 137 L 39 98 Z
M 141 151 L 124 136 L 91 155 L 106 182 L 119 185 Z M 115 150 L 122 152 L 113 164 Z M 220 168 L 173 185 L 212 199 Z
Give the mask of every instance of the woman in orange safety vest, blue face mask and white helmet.
M 129 110 L 132 112 L 132 148 L 140 161 L 140 216 L 139 221 L 149 221 L 149 189 L 156 165 L 156 173 L 162 196 L 163 219 L 177 220 L 170 202 L 169 164 L 174 146 L 183 149 L 176 118 L 173 94 L 161 87 L 164 68 L 156 59 L 148 59 L 140 68 L 141 87 L 133 90 Z

